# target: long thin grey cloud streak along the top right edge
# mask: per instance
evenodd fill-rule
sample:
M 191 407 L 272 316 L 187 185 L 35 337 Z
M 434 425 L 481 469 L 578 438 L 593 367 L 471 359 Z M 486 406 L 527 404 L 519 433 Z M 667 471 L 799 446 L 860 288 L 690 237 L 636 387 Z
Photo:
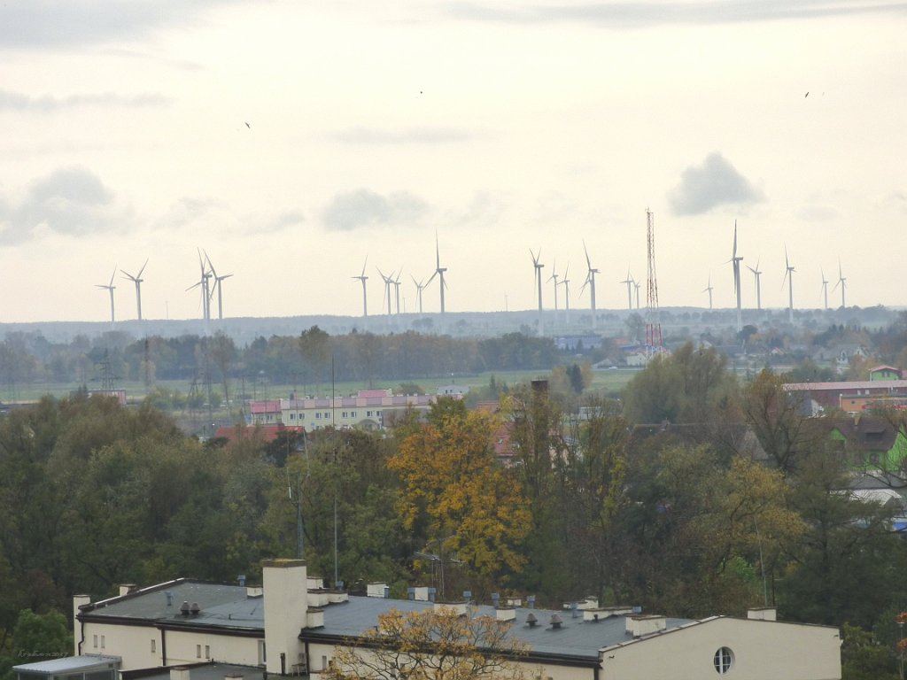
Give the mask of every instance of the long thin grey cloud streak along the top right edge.
M 811 19 L 862 14 L 907 15 L 907 5 L 891 0 L 762 0 L 732 3 L 622 2 L 573 5 L 500 5 L 457 2 L 446 5 L 449 15 L 470 21 L 539 24 L 579 22 L 610 28 L 644 28 L 663 24 L 739 24 L 755 21 Z

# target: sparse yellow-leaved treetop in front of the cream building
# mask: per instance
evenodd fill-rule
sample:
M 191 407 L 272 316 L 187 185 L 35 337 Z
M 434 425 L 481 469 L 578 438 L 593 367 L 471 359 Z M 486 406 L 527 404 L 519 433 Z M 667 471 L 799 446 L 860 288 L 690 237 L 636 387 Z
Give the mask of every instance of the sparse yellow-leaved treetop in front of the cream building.
M 327 680 L 418 678 L 419 680 L 518 680 L 526 647 L 508 636 L 510 623 L 488 616 L 459 616 L 453 608 L 378 617 L 348 645 L 336 647 Z

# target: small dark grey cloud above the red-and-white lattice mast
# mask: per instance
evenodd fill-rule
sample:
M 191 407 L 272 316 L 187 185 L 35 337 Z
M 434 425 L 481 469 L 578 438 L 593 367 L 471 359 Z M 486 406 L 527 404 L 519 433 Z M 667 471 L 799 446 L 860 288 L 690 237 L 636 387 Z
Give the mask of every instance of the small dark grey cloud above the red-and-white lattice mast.
M 746 205 L 765 200 L 749 180 L 720 153 L 710 153 L 700 166 L 680 175 L 680 186 L 670 195 L 676 215 L 700 215 L 721 205 Z

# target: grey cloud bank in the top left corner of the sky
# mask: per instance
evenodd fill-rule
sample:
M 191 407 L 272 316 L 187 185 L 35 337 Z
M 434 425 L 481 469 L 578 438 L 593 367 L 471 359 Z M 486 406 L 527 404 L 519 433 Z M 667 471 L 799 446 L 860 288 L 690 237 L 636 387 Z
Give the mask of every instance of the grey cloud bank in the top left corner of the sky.
M 121 42 L 167 24 L 190 24 L 233 0 L 28 0 L 3 7 L 0 48 Z

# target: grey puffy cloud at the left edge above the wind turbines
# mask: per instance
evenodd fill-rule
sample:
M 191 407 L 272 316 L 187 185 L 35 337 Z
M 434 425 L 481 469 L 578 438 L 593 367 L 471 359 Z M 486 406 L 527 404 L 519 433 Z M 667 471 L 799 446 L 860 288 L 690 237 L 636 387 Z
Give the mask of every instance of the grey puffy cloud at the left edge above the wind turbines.
M 90 170 L 56 170 L 37 180 L 18 204 L 0 204 L 0 244 L 13 245 L 42 233 L 82 236 L 122 226 L 124 210 Z

